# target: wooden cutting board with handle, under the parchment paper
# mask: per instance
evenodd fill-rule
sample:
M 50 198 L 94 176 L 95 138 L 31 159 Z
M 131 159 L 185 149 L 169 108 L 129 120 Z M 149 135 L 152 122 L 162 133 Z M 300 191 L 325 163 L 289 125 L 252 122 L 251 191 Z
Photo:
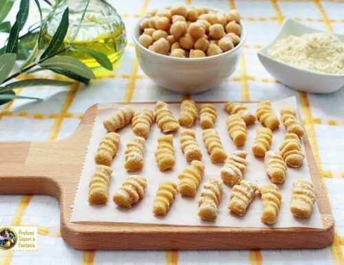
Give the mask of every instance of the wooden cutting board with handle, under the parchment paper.
M 69 222 L 96 105 L 72 136 L 59 141 L 0 142 L 0 193 L 49 194 L 60 200 L 61 235 L 80 249 L 321 248 L 334 236 L 334 221 L 319 171 L 305 141 L 323 229 L 172 226 Z

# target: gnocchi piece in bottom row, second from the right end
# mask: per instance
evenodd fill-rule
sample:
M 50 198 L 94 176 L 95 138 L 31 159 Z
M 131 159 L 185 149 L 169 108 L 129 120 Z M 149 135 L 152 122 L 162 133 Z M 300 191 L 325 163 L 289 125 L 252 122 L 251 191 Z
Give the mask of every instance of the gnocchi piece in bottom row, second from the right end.
M 281 206 L 282 195 L 275 184 L 266 184 L 259 188 L 261 193 L 261 222 L 264 224 L 275 224 L 279 208 Z

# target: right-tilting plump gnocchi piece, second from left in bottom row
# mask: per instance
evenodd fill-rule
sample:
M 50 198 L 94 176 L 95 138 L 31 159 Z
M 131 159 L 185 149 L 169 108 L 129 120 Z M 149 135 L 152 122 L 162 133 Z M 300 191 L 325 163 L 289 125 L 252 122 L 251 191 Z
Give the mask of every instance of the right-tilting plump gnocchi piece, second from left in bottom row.
M 144 189 L 147 187 L 147 178 L 131 175 L 122 183 L 122 187 L 114 193 L 114 202 L 118 206 L 131 208 L 140 199 L 144 198 Z

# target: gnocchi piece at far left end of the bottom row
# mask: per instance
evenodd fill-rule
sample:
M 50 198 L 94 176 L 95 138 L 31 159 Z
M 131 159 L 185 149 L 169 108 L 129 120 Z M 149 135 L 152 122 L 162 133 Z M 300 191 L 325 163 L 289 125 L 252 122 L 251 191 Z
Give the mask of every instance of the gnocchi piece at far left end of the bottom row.
M 88 202 L 90 204 L 106 204 L 108 201 L 112 169 L 104 165 L 98 165 L 89 181 Z

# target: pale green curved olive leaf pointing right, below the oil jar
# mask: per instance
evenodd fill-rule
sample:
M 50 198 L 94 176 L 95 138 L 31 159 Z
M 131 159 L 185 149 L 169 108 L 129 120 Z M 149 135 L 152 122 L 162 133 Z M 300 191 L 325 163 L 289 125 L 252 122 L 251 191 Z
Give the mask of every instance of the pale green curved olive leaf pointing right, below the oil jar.
M 40 63 L 42 67 L 54 67 L 67 70 L 84 78 L 94 79 L 94 73 L 85 63 L 78 61 L 71 56 L 56 56 Z

